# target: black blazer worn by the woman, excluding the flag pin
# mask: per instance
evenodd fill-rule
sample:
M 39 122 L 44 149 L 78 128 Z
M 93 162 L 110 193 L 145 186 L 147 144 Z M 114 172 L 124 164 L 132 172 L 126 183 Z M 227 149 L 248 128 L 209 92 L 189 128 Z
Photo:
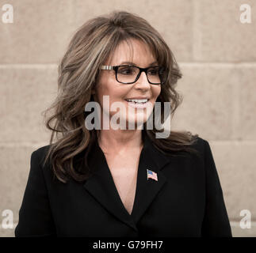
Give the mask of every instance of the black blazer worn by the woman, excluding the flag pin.
M 50 166 L 42 166 L 48 147 L 31 155 L 15 236 L 231 236 L 216 165 L 202 138 L 193 145 L 201 157 L 169 157 L 144 138 L 131 215 L 97 142 L 94 176 L 83 183 L 52 179 Z M 147 179 L 147 169 L 158 181 Z

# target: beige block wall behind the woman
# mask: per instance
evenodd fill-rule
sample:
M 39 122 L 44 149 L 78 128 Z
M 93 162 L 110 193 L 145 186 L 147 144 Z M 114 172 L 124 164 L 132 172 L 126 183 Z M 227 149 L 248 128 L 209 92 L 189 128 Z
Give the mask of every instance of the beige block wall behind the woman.
M 57 65 L 75 29 L 113 9 L 139 14 L 166 38 L 184 77 L 173 127 L 208 140 L 234 236 L 256 236 L 256 1 L 255 0 L 0 0 L 13 23 L 0 20 L 0 224 L 14 227 L 33 150 L 48 144 L 41 111 L 53 100 Z M 242 4 L 251 23 L 240 22 Z M 250 210 L 251 228 L 239 227 Z M 0 236 L 13 229 L 0 228 Z

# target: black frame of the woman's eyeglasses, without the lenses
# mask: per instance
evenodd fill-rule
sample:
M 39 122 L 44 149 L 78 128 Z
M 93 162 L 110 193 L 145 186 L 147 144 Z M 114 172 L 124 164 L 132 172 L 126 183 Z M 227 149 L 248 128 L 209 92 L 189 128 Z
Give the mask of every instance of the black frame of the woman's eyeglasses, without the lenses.
M 115 70 L 115 73 L 116 73 L 116 80 L 118 81 L 117 79 L 117 70 L 120 66 L 134 66 L 134 65 L 119 65 L 119 66 L 109 66 L 109 65 L 102 65 L 100 67 L 100 70 Z M 147 70 L 153 68 L 153 67 L 156 67 L 156 66 L 148 66 L 147 68 L 140 68 L 139 66 L 134 66 L 136 67 L 137 69 L 139 69 L 139 74 L 137 74 L 136 76 L 136 79 L 135 81 L 132 81 L 132 82 L 123 82 L 123 81 L 118 81 L 120 82 L 121 84 L 125 84 L 125 85 L 132 85 L 134 84 L 136 81 L 138 81 L 139 77 L 140 77 L 140 74 L 142 72 L 145 72 L 146 76 L 147 76 Z M 167 73 L 168 73 L 168 70 L 163 68 L 162 66 L 158 66 L 159 67 L 159 70 L 162 69 L 162 70 L 166 70 Z M 160 77 L 161 79 L 161 77 Z M 167 74 L 167 77 L 166 77 L 166 81 L 168 80 L 168 74 Z M 148 77 L 147 77 L 147 81 L 151 84 L 151 85 L 163 85 L 164 83 L 166 83 L 166 81 L 161 81 L 159 83 L 153 83 L 151 81 L 148 80 Z

